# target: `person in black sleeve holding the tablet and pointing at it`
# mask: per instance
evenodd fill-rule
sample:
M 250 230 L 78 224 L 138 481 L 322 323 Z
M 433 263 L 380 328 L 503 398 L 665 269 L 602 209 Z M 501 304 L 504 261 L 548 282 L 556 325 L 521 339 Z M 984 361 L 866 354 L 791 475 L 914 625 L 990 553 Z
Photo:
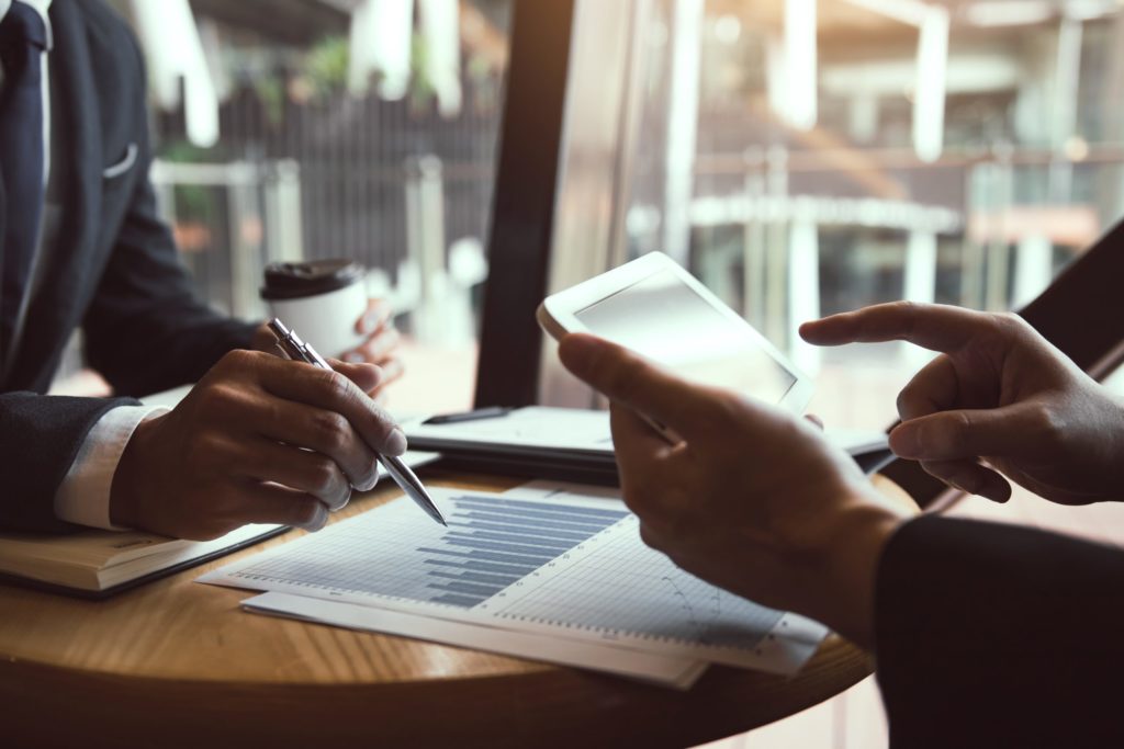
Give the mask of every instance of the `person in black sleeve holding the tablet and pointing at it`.
M 1022 319 L 885 304 L 801 335 L 942 351 L 901 391 L 890 446 L 946 483 L 998 501 L 1008 479 L 1067 504 L 1124 499 L 1124 401 Z M 892 746 L 1124 745 L 1120 549 L 909 518 L 807 421 L 590 336 L 569 336 L 560 354 L 613 400 L 624 497 L 644 540 L 872 648 Z M 669 446 L 637 413 L 683 441 Z

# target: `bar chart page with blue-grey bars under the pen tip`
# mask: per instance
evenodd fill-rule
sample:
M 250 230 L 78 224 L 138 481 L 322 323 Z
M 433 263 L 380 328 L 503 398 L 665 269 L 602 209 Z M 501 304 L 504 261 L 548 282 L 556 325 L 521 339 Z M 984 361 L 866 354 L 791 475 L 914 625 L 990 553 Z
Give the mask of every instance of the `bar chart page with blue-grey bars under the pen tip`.
M 454 496 L 448 528 L 398 503 L 329 528 L 232 576 L 471 609 L 628 517 L 624 509 Z M 324 536 L 334 537 L 325 542 Z M 312 542 L 317 539 L 319 542 Z

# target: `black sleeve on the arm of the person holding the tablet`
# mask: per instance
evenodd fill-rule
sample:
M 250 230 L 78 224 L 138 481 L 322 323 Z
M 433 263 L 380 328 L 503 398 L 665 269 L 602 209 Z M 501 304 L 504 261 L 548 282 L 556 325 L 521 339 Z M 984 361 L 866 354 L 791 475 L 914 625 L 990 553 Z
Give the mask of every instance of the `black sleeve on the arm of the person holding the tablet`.
M 1124 746 L 1124 551 L 919 518 L 880 561 L 876 647 L 891 746 Z

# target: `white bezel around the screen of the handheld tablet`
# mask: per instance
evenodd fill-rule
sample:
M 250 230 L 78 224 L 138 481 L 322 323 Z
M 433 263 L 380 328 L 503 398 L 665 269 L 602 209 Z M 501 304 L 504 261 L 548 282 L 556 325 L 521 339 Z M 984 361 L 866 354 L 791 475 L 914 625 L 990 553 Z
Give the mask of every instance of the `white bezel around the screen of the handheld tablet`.
M 729 309 L 729 307 L 718 299 L 709 289 L 688 273 L 681 265 L 664 255 L 663 253 L 647 253 L 641 257 L 625 263 L 618 267 L 607 271 L 601 275 L 571 286 L 556 294 L 551 294 L 538 305 L 536 318 L 540 326 L 555 340 L 561 340 L 568 332 L 588 332 L 597 335 L 590 330 L 578 317 L 578 312 L 597 304 L 614 294 L 620 293 L 631 286 L 649 278 L 656 273 L 671 272 L 677 278 L 691 289 L 698 296 L 709 304 L 719 314 L 728 318 L 742 327 L 746 335 L 773 358 L 781 367 L 792 375 L 792 386 L 780 400 L 779 405 L 792 413 L 803 413 L 804 409 L 812 400 L 814 384 L 812 378 L 797 367 L 791 359 L 785 356 L 780 349 L 772 345 L 768 338 L 762 336 L 756 328 L 751 326 L 745 319 Z M 750 398 L 755 398 L 762 402 L 763 399 L 754 396 L 752 393 L 742 393 Z

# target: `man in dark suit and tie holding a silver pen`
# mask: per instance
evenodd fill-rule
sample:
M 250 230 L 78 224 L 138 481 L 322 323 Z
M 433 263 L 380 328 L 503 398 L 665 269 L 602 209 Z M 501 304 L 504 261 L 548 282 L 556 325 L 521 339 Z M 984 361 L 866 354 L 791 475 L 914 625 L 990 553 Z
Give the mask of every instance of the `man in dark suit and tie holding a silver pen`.
M 405 449 L 368 395 L 388 375 L 284 362 L 263 328 L 197 301 L 151 159 L 123 21 L 100 0 L 0 0 L 0 528 L 318 528 L 373 485 L 373 450 Z M 78 328 L 123 396 L 44 394 Z M 393 335 L 368 330 L 361 358 Z M 126 398 L 196 380 L 171 412 Z

